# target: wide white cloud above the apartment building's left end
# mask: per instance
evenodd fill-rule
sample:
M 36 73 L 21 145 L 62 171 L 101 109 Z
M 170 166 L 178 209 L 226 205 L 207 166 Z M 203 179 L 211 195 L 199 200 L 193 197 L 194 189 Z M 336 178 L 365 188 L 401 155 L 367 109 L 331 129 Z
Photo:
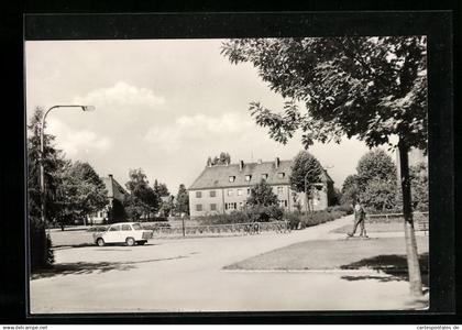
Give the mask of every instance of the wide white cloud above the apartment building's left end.
M 194 142 L 210 144 L 221 139 L 242 138 L 252 132 L 253 122 L 250 117 L 226 112 L 219 117 L 197 113 L 182 116 L 170 125 L 151 128 L 144 140 L 164 150 L 177 150 Z

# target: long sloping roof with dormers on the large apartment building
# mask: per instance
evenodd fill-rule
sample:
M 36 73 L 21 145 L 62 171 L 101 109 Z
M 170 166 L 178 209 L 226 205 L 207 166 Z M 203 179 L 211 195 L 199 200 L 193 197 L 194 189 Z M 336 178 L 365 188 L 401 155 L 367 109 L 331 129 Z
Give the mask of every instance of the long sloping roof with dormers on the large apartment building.
M 240 164 L 207 166 L 188 189 L 252 186 L 260 183 L 262 174 L 268 175 L 266 182 L 270 185 L 288 185 L 292 164 L 293 161 L 280 161 L 276 168 L 275 162 L 249 163 L 244 164 L 242 170 Z M 284 178 L 279 177 L 279 173 L 284 173 Z M 245 180 L 246 175 L 252 176 L 250 182 Z M 230 183 L 230 176 L 235 176 L 234 182 Z M 328 174 L 327 179 L 331 180 Z

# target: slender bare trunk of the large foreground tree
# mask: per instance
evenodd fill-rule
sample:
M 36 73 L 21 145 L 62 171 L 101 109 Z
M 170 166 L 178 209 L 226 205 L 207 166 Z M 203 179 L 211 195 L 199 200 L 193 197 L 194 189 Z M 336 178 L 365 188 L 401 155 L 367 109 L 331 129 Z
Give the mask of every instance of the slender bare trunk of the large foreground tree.
M 403 215 L 406 239 L 407 267 L 409 274 L 410 294 L 414 296 L 422 295 L 422 280 L 420 276 L 419 255 L 417 253 L 416 233 L 414 231 L 410 177 L 409 177 L 409 147 L 400 140 L 399 150 L 399 173 L 402 178 L 403 191 Z

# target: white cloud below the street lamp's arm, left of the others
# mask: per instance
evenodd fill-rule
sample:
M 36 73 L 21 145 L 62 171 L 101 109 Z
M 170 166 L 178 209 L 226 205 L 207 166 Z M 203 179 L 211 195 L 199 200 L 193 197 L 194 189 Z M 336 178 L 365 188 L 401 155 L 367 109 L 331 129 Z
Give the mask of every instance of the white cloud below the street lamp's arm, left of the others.
M 80 153 L 107 152 L 112 148 L 112 141 L 88 130 L 76 131 L 57 119 L 50 119 L 47 133 L 56 136 L 56 144 L 67 156 Z

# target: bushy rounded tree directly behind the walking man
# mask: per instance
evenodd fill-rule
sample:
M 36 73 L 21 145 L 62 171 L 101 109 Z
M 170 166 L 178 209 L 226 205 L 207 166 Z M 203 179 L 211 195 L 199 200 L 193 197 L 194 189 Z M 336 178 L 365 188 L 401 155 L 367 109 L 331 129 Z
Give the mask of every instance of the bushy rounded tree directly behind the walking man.
M 364 205 L 377 211 L 393 210 L 396 206 L 396 165 L 383 150 L 375 148 L 358 162 L 358 193 Z

